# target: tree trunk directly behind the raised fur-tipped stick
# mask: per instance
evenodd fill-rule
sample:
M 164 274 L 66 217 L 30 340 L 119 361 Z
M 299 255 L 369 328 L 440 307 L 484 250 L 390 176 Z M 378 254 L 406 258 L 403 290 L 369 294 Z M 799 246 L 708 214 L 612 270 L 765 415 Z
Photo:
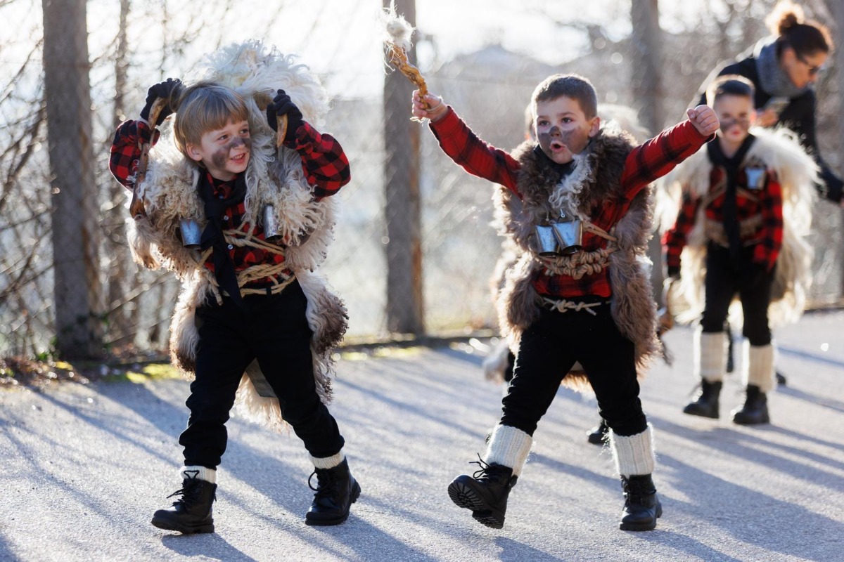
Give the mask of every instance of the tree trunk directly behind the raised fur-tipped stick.
M 390 0 L 384 0 L 384 7 Z M 396 10 L 412 25 L 414 0 L 398 0 Z M 408 53 L 415 60 L 415 50 Z M 422 242 L 419 211 L 419 124 L 410 120 L 413 85 L 401 72 L 384 80 L 384 186 L 387 221 L 387 329 L 422 335 Z

